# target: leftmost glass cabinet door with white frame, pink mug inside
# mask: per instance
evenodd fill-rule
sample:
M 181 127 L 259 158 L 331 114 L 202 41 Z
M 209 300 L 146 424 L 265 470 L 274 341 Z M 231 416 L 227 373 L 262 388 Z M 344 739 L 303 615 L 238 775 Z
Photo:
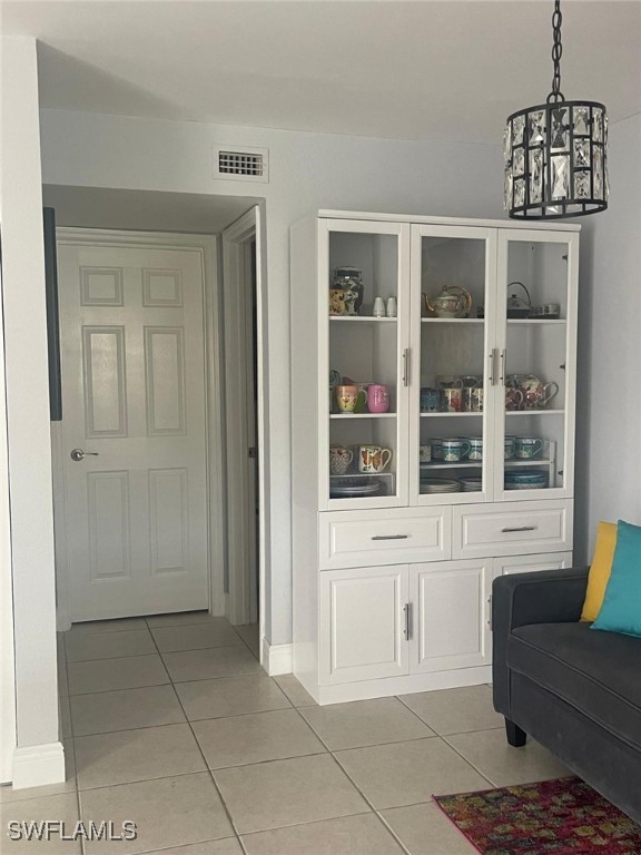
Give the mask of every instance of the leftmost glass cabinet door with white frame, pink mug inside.
M 327 220 L 325 237 L 320 314 L 327 323 L 328 392 L 322 469 L 327 479 L 322 479 L 322 494 L 329 509 L 406 504 L 410 227 Z

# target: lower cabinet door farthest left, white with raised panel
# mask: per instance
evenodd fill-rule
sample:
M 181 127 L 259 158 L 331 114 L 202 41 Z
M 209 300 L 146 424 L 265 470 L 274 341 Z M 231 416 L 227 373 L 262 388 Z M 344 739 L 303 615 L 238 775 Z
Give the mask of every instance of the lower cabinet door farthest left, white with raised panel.
M 407 674 L 407 566 L 319 576 L 322 685 Z

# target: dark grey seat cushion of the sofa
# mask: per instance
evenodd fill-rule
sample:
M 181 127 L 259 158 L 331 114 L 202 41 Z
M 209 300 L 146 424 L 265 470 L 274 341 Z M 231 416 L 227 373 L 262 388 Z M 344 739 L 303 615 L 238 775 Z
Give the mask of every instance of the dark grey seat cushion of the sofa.
M 641 639 L 589 623 L 514 629 L 507 665 L 641 750 Z

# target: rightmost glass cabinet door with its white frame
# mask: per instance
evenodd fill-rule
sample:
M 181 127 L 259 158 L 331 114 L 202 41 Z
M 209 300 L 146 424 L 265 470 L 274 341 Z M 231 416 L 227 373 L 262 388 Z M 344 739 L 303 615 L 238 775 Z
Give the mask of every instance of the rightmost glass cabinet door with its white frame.
M 500 236 L 496 499 L 572 495 L 576 269 L 576 234 Z

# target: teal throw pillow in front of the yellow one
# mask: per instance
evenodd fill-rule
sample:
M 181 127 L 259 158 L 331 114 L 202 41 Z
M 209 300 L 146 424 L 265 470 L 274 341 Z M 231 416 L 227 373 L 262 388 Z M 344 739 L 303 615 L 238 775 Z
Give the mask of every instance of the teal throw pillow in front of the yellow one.
M 619 520 L 603 606 L 592 629 L 641 637 L 641 527 Z

